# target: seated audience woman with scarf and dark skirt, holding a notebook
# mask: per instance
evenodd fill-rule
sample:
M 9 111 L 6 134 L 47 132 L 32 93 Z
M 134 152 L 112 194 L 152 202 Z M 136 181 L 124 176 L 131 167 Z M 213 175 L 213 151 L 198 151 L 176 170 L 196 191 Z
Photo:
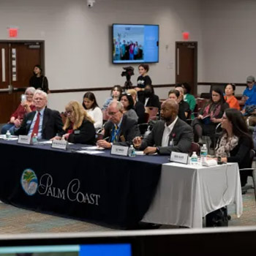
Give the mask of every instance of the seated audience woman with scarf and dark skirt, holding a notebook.
M 214 88 L 211 91 L 211 99 L 206 103 L 204 108 L 200 110 L 200 114 L 192 121 L 194 129 L 195 141 L 199 144 L 204 144 L 203 135 L 211 138 L 212 145 L 214 145 L 214 133 L 226 108 L 229 108 L 227 102 L 223 97 L 222 90 Z

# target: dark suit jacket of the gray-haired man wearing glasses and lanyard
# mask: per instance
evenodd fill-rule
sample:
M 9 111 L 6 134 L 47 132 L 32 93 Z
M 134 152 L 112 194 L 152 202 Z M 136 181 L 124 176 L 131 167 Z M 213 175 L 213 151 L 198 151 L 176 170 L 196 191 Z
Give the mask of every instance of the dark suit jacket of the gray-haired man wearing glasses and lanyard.
M 114 124 L 111 121 L 108 121 L 105 124 L 105 134 L 104 134 L 104 138 L 109 137 L 108 142 L 111 141 L 111 134 L 113 129 L 114 129 Z M 124 115 L 123 120 L 121 121 L 120 132 L 117 138 L 118 141 L 113 144 L 121 145 L 121 146 L 132 145 L 133 138 L 139 135 L 140 135 L 140 132 L 137 126 L 137 121 Z M 122 138 L 124 139 L 124 141 L 121 140 Z

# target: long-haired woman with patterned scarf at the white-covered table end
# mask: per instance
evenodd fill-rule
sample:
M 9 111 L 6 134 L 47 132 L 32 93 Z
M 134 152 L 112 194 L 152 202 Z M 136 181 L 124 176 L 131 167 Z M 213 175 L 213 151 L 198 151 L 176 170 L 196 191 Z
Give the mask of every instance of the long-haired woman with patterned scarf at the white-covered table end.
M 235 108 L 227 108 L 222 116 L 223 134 L 217 143 L 216 156 L 221 162 L 237 162 L 240 169 L 250 168 L 248 161 L 253 148 L 252 135 L 246 126 L 244 117 Z M 241 172 L 241 186 L 247 182 L 248 173 Z

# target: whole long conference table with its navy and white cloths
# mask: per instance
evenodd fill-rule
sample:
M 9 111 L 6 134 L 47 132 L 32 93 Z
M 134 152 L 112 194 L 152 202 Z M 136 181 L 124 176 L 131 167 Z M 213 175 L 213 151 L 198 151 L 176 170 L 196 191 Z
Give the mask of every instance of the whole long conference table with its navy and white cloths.
M 192 167 L 168 156 L 121 157 L 0 140 L 0 200 L 12 206 L 121 228 L 143 222 L 202 227 L 203 217 L 236 203 L 236 164 Z

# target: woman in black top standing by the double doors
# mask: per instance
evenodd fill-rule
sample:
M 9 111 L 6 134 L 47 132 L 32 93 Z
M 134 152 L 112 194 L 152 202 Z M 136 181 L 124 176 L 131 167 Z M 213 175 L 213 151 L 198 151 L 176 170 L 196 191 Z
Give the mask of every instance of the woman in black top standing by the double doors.
M 35 65 L 33 69 L 34 75 L 29 80 L 29 86 L 35 89 L 41 89 L 47 94 L 49 91 L 48 80 L 45 75 L 42 75 L 42 67 L 40 65 Z

